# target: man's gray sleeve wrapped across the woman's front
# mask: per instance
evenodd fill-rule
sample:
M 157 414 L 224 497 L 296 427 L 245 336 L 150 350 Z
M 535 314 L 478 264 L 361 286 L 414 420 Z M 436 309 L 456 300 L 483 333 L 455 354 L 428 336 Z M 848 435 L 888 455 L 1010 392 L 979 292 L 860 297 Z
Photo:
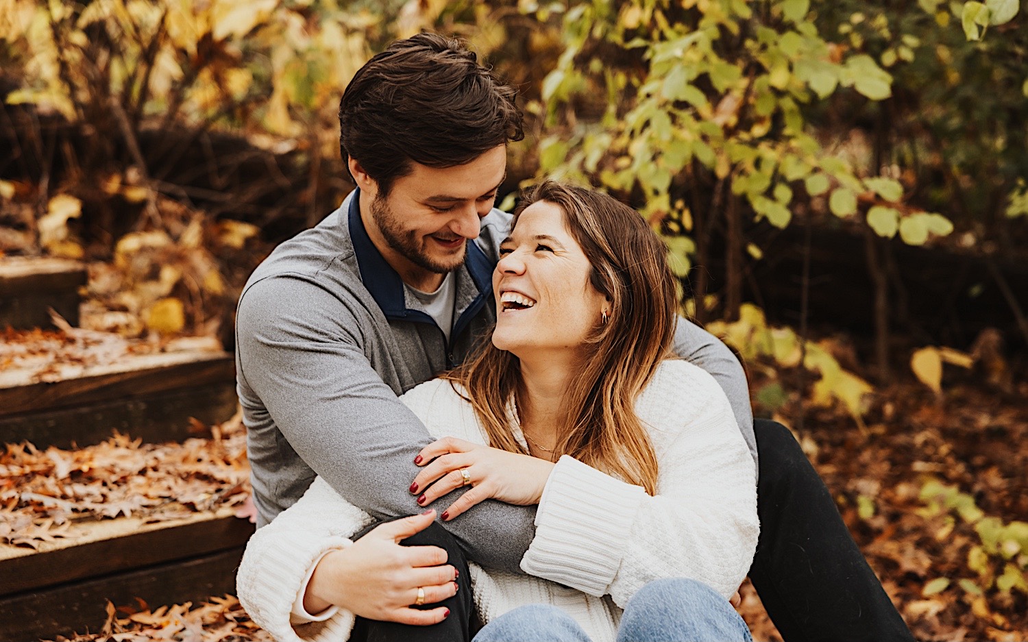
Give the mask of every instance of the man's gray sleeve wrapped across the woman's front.
M 420 513 L 408 486 L 414 456 L 433 439 L 372 369 L 357 318 L 302 278 L 259 281 L 240 302 L 238 377 L 289 446 L 347 501 L 378 519 Z M 535 515 L 535 506 L 487 500 L 446 528 L 474 561 L 521 572 Z

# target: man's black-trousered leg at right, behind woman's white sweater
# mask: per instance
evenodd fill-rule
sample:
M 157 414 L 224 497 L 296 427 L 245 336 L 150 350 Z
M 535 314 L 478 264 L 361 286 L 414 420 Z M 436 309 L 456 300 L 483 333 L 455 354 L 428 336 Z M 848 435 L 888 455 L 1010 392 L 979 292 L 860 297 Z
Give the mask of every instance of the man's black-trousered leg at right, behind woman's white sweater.
M 755 422 L 761 535 L 749 579 L 785 642 L 913 642 L 793 435 Z

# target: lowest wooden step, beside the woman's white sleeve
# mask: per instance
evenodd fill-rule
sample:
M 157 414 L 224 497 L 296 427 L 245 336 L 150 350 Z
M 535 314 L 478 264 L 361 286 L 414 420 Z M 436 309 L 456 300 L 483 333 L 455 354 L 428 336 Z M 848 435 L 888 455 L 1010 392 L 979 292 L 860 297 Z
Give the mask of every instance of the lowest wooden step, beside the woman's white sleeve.
M 74 524 L 39 551 L 0 545 L 0 640 L 98 632 L 107 601 L 198 602 L 235 592 L 254 527 L 233 508 L 146 524 L 119 518 Z

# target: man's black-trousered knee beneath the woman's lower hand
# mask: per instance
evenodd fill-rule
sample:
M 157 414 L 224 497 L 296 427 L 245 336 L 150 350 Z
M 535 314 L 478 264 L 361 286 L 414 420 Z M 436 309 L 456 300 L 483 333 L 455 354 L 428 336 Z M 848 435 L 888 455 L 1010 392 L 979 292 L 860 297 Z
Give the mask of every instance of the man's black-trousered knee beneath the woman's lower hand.
M 360 539 L 372 528 L 374 526 L 358 533 L 354 539 Z M 429 627 L 358 617 L 357 621 L 354 622 L 354 632 L 350 636 L 351 642 L 411 642 L 414 640 L 417 642 L 470 642 L 471 636 L 477 633 L 478 626 L 471 598 L 471 571 L 468 570 L 468 560 L 456 539 L 439 522 L 434 522 L 432 526 L 407 537 L 400 543 L 404 546 L 439 546 L 446 550 L 448 556 L 446 563 L 457 570 L 460 590 L 457 590 L 456 595 L 442 602 L 425 604 L 414 608 L 431 609 L 445 606 L 450 610 L 450 614 L 438 625 Z

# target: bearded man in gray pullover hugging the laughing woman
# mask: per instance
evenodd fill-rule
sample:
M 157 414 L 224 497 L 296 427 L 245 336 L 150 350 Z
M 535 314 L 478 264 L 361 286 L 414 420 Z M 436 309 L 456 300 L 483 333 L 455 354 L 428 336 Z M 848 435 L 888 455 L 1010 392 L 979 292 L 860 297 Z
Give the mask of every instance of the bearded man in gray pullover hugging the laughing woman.
M 261 525 L 316 475 L 377 519 L 420 512 L 404 484 L 432 440 L 397 395 L 461 363 L 494 320 L 490 274 L 510 217 L 492 204 L 506 145 L 522 138 L 513 89 L 460 43 L 420 34 L 358 71 L 339 122 L 357 189 L 280 246 L 238 306 Z M 728 348 L 680 319 L 675 349 L 725 389 L 755 461 L 760 447 L 750 576 L 786 641 L 912 639 L 795 440 L 771 422 L 755 437 Z M 534 513 L 490 500 L 446 528 L 469 559 L 521 572 Z

